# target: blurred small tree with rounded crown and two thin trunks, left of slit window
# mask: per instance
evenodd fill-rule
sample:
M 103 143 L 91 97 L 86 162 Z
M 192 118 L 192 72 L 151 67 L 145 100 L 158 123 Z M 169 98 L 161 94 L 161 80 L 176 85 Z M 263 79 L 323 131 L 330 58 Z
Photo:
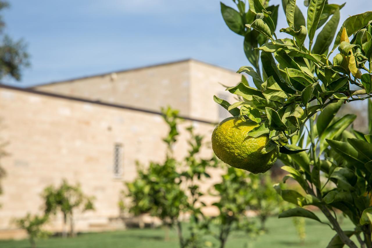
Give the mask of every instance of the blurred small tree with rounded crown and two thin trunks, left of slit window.
M 56 214 L 60 210 L 63 214 L 64 229 L 62 236 L 67 237 L 67 221 L 70 221 L 70 235 L 74 236 L 74 211 L 94 210 L 94 197 L 88 197 L 81 191 L 80 184 L 70 185 L 64 179 L 60 187 L 53 185 L 44 189 L 42 197 L 45 201 L 45 214 Z

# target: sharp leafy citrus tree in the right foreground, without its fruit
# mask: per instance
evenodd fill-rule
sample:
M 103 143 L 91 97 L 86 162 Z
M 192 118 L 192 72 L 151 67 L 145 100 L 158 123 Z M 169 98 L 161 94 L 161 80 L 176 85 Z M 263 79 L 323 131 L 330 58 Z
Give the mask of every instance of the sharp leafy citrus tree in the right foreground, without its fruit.
M 255 87 L 244 78 L 227 89 L 238 95 L 239 102 L 230 105 L 217 97 L 215 101 L 240 120 L 256 122 L 247 137 L 267 136 L 269 141 L 259 152 L 278 149 L 282 169 L 289 172 L 283 182 L 292 178 L 302 188 L 284 190 L 276 185 L 284 200 L 297 205 L 279 217 L 321 222 L 306 209 L 312 205 L 336 232 L 329 247 L 357 247 L 351 236 L 360 247 L 372 247 L 372 104 L 367 134 L 347 131 L 355 115 L 335 117 L 342 104 L 372 97 L 372 11 L 349 16 L 338 30 L 344 4 L 305 1 L 305 18 L 295 0 L 282 0 L 289 27 L 280 32 L 291 38 L 278 39 L 268 1 L 263 6 L 260 0 L 249 0 L 248 11 L 243 1 L 234 2 L 238 11 L 221 8 L 229 28 L 256 40 L 259 36 L 250 34 L 259 32 L 264 42 L 257 48 L 245 42 L 256 70 L 249 66 L 238 70 L 250 75 Z M 341 228 L 334 209 L 349 217 L 353 230 Z

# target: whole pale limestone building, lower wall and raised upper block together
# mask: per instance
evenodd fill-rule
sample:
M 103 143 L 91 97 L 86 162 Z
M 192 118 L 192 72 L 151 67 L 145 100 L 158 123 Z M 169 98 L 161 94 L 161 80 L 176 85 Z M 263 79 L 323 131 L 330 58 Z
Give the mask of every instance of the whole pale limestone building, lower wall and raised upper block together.
M 1 180 L 0 238 L 23 237 L 12 220 L 42 213 L 42 190 L 64 178 L 96 198 L 94 212 L 76 213 L 78 231 L 115 228 L 119 194 L 123 182 L 135 178 L 135 162 L 164 159 L 167 126 L 160 108 L 170 105 L 185 118 L 174 147 L 182 158 L 183 127 L 193 124 L 209 141 L 213 123 L 228 116 L 213 95 L 227 99 L 221 84 L 239 81 L 233 71 L 184 60 L 29 89 L 0 85 L 0 137 L 9 153 L 1 159 L 7 175 Z M 50 228 L 61 230 L 61 221 L 56 216 Z

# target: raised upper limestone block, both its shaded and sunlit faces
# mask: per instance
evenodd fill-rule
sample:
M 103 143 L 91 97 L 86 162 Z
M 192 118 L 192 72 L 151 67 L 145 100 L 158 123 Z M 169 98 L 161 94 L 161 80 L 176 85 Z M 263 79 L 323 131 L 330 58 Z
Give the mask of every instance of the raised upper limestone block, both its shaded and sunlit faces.
M 153 111 L 170 105 L 179 109 L 182 115 L 216 122 L 221 117 L 221 107 L 215 104 L 213 95 L 232 100 L 222 85 L 234 86 L 240 82 L 240 77 L 234 71 L 218 66 L 184 60 L 56 82 L 34 89 Z

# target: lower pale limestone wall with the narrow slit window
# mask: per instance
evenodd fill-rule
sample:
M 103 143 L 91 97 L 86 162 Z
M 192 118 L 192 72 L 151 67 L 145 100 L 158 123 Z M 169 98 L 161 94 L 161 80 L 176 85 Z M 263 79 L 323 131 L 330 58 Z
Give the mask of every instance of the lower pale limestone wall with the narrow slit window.
M 158 114 L 4 87 L 0 87 L 0 109 L 0 136 L 9 142 L 9 156 L 1 159 L 7 176 L 1 180 L 0 233 L 15 228 L 14 218 L 41 213 L 42 190 L 59 185 L 63 178 L 80 182 L 84 193 L 96 197 L 96 211 L 76 213 L 77 230 L 105 225 L 119 216 L 119 194 L 123 182 L 135 178 L 135 162 L 146 165 L 164 159 L 166 146 L 161 139 L 168 130 Z M 210 156 L 214 126 L 186 120 L 174 147 L 177 158 L 186 155 L 184 127 L 191 124 L 205 136 L 203 156 Z M 113 173 L 115 144 L 122 145 L 120 175 Z M 219 173 L 212 171 L 212 179 L 203 184 L 205 190 L 218 181 L 214 175 Z M 51 228 L 61 230 L 61 220 L 57 216 Z

